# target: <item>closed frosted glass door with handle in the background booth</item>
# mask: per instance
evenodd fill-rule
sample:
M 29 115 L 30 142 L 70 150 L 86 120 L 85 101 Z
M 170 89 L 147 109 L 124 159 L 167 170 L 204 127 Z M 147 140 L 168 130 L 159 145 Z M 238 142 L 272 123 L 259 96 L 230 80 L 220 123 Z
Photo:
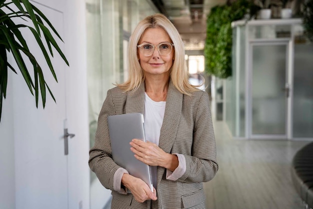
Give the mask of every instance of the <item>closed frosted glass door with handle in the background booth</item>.
M 250 137 L 287 138 L 288 42 L 250 49 Z

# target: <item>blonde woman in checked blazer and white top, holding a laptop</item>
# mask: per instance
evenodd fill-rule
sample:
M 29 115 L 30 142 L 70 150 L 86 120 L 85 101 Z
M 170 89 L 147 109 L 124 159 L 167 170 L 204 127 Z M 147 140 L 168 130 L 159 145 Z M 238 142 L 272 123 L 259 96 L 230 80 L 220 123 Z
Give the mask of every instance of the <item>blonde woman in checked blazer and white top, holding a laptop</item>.
M 107 91 L 99 113 L 91 170 L 112 190 L 112 208 L 205 208 L 202 182 L 218 169 L 216 145 L 208 95 L 188 82 L 178 31 L 164 15 L 148 16 L 128 56 L 128 80 Z M 144 114 L 147 142 L 132 139 L 129 148 L 151 165 L 154 192 L 111 158 L 107 116 L 132 112 Z

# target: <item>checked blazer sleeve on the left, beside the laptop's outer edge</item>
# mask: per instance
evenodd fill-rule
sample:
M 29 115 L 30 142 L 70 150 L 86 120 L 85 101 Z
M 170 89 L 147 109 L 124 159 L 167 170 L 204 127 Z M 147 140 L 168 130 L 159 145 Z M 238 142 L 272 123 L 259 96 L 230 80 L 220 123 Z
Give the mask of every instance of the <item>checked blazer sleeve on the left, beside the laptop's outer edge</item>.
M 123 188 L 116 188 L 114 186 L 114 174 L 118 169 L 119 175 L 120 171 L 123 169 L 118 166 L 112 159 L 112 151 L 109 141 L 108 126 L 107 126 L 107 116 L 115 114 L 114 103 L 111 96 L 111 91 L 108 90 L 106 98 L 102 104 L 100 110 L 97 128 L 95 132 L 94 145 L 89 150 L 89 167 L 96 174 L 97 178 L 101 184 L 110 190 L 119 190 L 119 192 L 124 193 Z M 120 169 L 119 169 L 120 168 Z M 124 169 L 123 169 L 124 170 Z M 125 171 L 127 172 L 127 171 Z M 116 174 L 115 174 L 116 179 Z M 116 184 L 116 182 L 115 182 Z M 120 185 L 120 182 L 119 182 Z

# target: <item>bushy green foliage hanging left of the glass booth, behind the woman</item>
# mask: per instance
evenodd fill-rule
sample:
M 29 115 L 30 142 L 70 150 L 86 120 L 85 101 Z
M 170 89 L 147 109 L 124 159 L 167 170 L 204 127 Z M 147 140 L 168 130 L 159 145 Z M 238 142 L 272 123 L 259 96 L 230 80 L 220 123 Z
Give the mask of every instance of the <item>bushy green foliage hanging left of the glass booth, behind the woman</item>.
M 237 0 L 230 5 L 211 8 L 206 20 L 206 39 L 204 45 L 205 71 L 216 77 L 231 75 L 231 22 L 242 19 L 249 13 L 251 2 Z

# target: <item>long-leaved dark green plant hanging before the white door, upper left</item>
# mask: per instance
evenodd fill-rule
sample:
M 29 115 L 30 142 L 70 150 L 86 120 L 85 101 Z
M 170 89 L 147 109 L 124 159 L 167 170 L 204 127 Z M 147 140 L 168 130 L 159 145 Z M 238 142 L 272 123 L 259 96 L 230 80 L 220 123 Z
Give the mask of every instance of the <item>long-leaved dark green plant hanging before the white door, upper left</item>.
M 12 9 L 12 6 L 15 8 Z M 33 27 L 25 24 L 15 24 L 13 21 L 14 18 L 21 18 L 24 21 L 31 20 Z M 8 68 L 17 74 L 17 71 L 13 68 L 12 64 L 8 63 L 7 61 L 8 53 L 12 53 L 31 94 L 33 95 L 33 92 L 35 93 L 36 107 L 38 107 L 39 88 L 43 108 L 46 99 L 46 88 L 55 101 L 50 88 L 44 80 L 42 68 L 36 61 L 34 55 L 29 51 L 26 40 L 23 38 L 23 35 L 20 31 L 21 28 L 25 27 L 29 28 L 29 30 L 32 32 L 44 55 L 47 66 L 49 67 L 50 72 L 57 82 L 56 74 L 49 56 L 50 54 L 53 57 L 52 46 L 60 54 L 67 65 L 68 62 L 45 24 L 47 24 L 52 32 L 56 34 L 60 40 L 62 40 L 45 15 L 28 0 L 0 0 L 0 121 L 2 101 L 6 96 Z M 43 38 L 47 45 L 48 51 L 45 49 L 44 43 L 42 41 Z M 29 74 L 22 54 L 24 54 L 27 59 L 29 59 L 33 66 L 33 78 L 31 78 Z

